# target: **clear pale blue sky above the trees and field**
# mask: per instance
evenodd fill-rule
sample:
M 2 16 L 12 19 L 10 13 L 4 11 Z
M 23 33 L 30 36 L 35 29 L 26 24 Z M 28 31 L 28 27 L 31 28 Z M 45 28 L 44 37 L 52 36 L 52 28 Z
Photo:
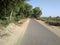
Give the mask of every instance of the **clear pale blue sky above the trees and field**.
M 40 7 L 42 16 L 56 17 L 60 16 L 60 0 L 30 0 L 28 1 L 34 7 Z

